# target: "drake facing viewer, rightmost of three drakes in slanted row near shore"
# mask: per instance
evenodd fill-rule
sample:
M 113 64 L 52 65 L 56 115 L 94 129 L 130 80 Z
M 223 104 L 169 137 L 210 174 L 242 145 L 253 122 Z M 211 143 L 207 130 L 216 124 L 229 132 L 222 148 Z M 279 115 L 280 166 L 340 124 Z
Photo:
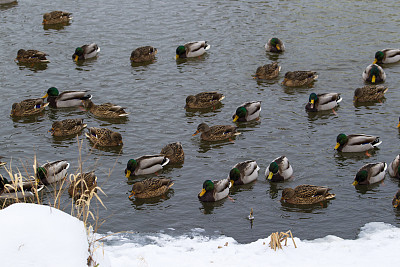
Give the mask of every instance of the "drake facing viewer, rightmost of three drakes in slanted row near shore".
M 271 182 L 283 182 L 293 175 L 293 168 L 285 156 L 274 159 L 265 170 L 265 177 Z

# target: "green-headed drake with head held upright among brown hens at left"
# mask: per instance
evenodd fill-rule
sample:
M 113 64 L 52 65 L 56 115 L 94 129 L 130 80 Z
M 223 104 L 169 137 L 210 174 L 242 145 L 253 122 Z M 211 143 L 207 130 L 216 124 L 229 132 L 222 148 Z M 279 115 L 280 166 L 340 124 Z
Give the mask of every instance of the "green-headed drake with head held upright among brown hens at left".
M 71 108 L 83 106 L 92 95 L 87 94 L 87 91 L 65 91 L 60 94 L 56 87 L 50 87 L 42 98 L 47 98 L 52 108 Z

